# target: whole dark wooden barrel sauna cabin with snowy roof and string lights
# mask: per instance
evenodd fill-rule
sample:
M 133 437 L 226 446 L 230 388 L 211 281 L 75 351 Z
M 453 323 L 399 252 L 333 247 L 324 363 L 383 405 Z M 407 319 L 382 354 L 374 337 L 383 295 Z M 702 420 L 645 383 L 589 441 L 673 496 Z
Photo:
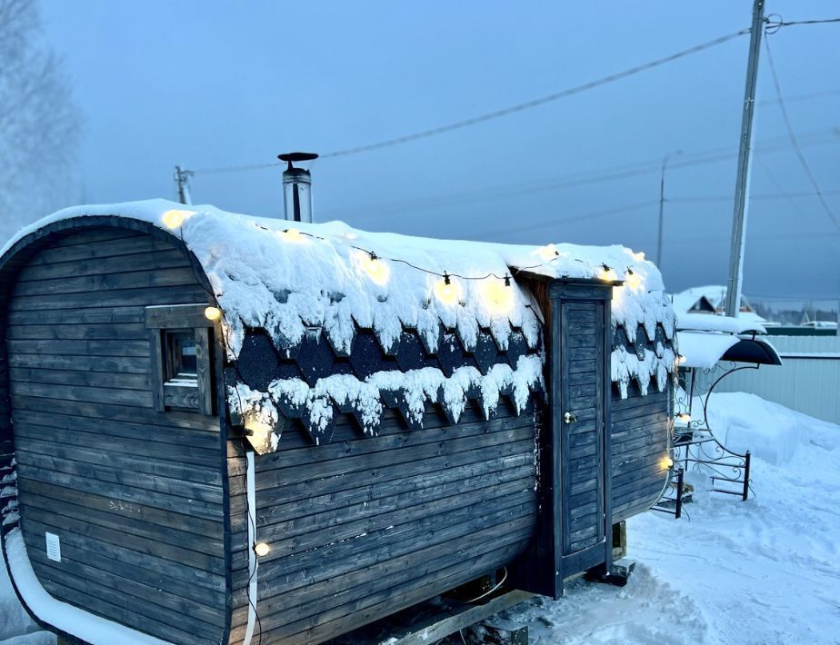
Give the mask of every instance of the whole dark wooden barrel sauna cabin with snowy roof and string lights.
M 609 571 L 669 474 L 643 255 L 184 208 L 69 209 L 0 257 L 3 552 L 39 624 L 320 643 Z

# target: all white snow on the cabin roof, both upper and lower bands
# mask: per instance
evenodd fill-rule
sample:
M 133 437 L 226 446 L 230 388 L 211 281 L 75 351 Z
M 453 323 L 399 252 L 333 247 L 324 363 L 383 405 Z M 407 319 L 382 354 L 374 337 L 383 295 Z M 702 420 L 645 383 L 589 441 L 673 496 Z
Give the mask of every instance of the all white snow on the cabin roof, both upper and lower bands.
M 301 234 L 290 236 L 284 233 L 291 225 L 285 220 L 225 213 L 213 206 L 185 208 L 152 200 L 66 209 L 21 231 L 0 253 L 26 233 L 62 219 L 118 215 L 167 229 L 165 213 L 181 211 L 185 213 L 183 222 L 168 230 L 195 253 L 213 287 L 223 311 L 230 360 L 236 360 L 248 328 L 265 329 L 281 355 L 312 328 L 322 329 L 340 354 L 350 351 L 357 327 L 373 330 L 385 348 L 395 346 L 405 329 L 415 329 L 427 347 L 436 348 L 441 325 L 455 330 L 467 352 L 475 349 L 481 329 L 489 330 L 504 351 L 514 328 L 522 330 L 533 352 L 539 352 L 531 362 L 520 361 L 515 370 L 496 365 L 485 375 L 475 368 L 458 369 L 446 379 L 434 368 L 423 368 L 373 374 L 365 382 L 342 375 L 326 377 L 314 388 L 289 380 L 273 383 L 270 392 L 255 392 L 244 384 L 229 392 L 232 406 L 244 407 L 240 412 L 255 413 L 266 424 L 278 421 L 273 397 L 304 401 L 309 424 L 315 430 L 325 428 L 332 420 L 333 402 L 339 406 L 352 404 L 364 420 L 372 420 L 381 405 L 372 388 L 381 391 L 393 387 L 395 379 L 403 388 L 410 415 L 419 414 L 423 402 L 434 400 L 433 392 L 444 392 L 447 408 L 459 413 L 465 405 L 465 392 L 475 386 L 485 406 L 495 405 L 498 392 L 513 386 L 515 402 L 522 407 L 526 399 L 523 383 L 533 386 L 541 381 L 541 376 L 535 378 L 540 370 L 533 363 L 541 367 L 542 355 L 539 313 L 535 312 L 531 293 L 515 280 L 520 271 L 555 279 L 594 279 L 604 265 L 612 267 L 619 278 L 632 270 L 642 282 L 637 289 L 615 287 L 614 326 L 622 326 L 630 342 L 635 342 L 640 326 L 649 339 L 655 338 L 657 325 L 662 326 L 666 338 L 675 335 L 675 316 L 658 270 L 622 246 L 558 243 L 535 247 L 434 240 L 367 233 L 341 222 L 295 223 Z M 375 253 L 384 263 L 386 279 L 365 272 L 368 253 Z M 444 273 L 452 276 L 460 291 L 458 303 L 443 303 L 435 297 L 435 284 Z M 509 274 L 510 303 L 501 309 L 493 307 L 489 288 L 495 285 L 504 290 L 502 281 Z M 619 350 L 613 354 L 613 377 L 623 383 L 623 395 L 631 377 L 639 380 L 643 392 L 652 376 L 661 389 L 667 374 L 673 372 L 673 364 L 670 350 L 647 352 L 643 360 Z M 276 444 L 269 448 L 275 449 Z

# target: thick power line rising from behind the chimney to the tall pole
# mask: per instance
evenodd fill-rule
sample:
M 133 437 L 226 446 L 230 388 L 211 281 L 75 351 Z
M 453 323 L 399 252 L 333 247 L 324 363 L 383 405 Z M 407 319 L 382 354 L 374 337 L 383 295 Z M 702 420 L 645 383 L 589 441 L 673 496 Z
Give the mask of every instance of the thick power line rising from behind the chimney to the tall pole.
M 373 150 L 379 150 L 381 148 L 389 148 L 395 145 L 407 144 L 412 141 L 417 141 L 419 139 L 425 139 L 431 136 L 436 136 L 438 134 L 445 134 L 449 132 L 453 132 L 455 130 L 461 130 L 465 127 L 470 127 L 471 125 L 482 124 L 487 121 L 492 121 L 494 119 L 501 118 L 503 116 L 509 116 L 510 114 L 516 114 L 519 112 L 524 112 L 525 110 L 530 110 L 535 108 L 539 105 L 544 105 L 547 103 L 552 103 L 554 101 L 559 101 L 560 99 L 567 98 L 574 94 L 581 94 L 588 90 L 593 90 L 596 87 L 601 87 L 606 84 L 615 83 L 616 81 L 620 81 L 622 79 L 628 78 L 629 76 L 634 76 L 635 74 L 641 74 L 642 72 L 646 72 L 648 70 L 654 69 L 655 67 L 659 67 L 661 65 L 666 65 L 668 63 L 672 63 L 675 60 L 680 58 L 685 58 L 685 56 L 698 54 L 706 49 L 710 49 L 717 45 L 723 45 L 724 43 L 729 42 L 737 38 L 740 35 L 745 35 L 749 32 L 749 29 L 742 29 L 740 31 L 734 32 L 732 34 L 727 34 L 715 38 L 714 40 L 710 40 L 706 43 L 702 43 L 700 45 L 695 45 L 693 47 L 689 47 L 682 51 L 676 52 L 675 54 L 665 56 L 663 58 L 657 58 L 654 61 L 650 61 L 648 63 L 644 63 L 642 65 L 635 65 L 634 67 L 630 67 L 625 69 L 621 72 L 616 72 L 615 74 L 608 74 L 601 78 L 596 79 L 595 81 L 589 81 L 585 84 L 576 85 L 575 87 L 570 87 L 565 90 L 561 90 L 559 92 L 555 92 L 553 94 L 546 94 L 545 96 L 540 96 L 539 98 L 532 99 L 531 101 L 525 101 L 525 103 L 510 105 L 508 107 L 504 107 L 500 110 L 494 110 L 493 112 L 488 112 L 485 114 L 480 114 L 478 116 L 473 116 L 468 119 L 463 119 L 461 121 L 455 121 L 454 123 L 439 125 L 435 128 L 430 128 L 428 130 L 421 130 L 420 132 L 415 132 L 413 134 L 405 134 L 403 136 L 398 136 L 393 139 L 385 139 L 383 141 L 378 141 L 374 144 L 366 144 L 366 145 L 358 145 L 353 148 L 344 148 L 342 150 L 335 150 L 329 153 L 321 154 L 321 159 L 330 159 L 335 157 L 341 156 L 348 156 L 350 154 L 359 154 L 359 153 L 366 153 Z M 205 169 L 197 169 L 193 171 L 195 174 L 222 174 L 222 173 L 239 173 L 239 172 L 248 172 L 252 170 L 262 170 L 265 168 L 271 168 L 278 165 L 277 163 L 272 164 L 250 164 L 250 165 L 239 165 L 239 166 L 227 166 L 222 168 L 205 168 Z

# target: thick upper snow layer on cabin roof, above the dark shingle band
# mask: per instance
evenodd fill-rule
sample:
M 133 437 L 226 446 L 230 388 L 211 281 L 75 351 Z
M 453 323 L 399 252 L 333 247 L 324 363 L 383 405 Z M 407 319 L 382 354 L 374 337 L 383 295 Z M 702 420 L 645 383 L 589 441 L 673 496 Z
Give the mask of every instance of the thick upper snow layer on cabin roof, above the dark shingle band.
M 459 305 L 439 303 L 432 293 L 438 275 L 418 271 L 402 260 L 433 273 L 480 277 L 491 273 L 515 275 L 527 268 L 552 278 L 596 278 L 602 264 L 611 266 L 619 278 L 629 267 L 643 280 L 638 292 L 626 287 L 615 290 L 613 318 L 625 327 L 631 341 L 635 329 L 645 327 L 653 337 L 656 323 L 673 334 L 674 314 L 668 305 L 658 270 L 639 260 L 622 246 L 578 246 L 558 243 L 557 255 L 545 261 L 535 254 L 539 247 L 477 243 L 409 237 L 394 233 L 356 231 L 345 223 L 295 223 L 304 234 L 289 241 L 282 232 L 285 220 L 225 213 L 214 206 L 185 207 L 165 200 L 150 200 L 94 206 L 76 206 L 46 217 L 19 232 L 0 254 L 47 223 L 85 215 L 120 215 L 153 223 L 166 229 L 163 216 L 170 210 L 189 208 L 195 213 L 173 230 L 195 253 L 213 285 L 225 313 L 228 344 L 235 358 L 245 327 L 271 332 L 278 345 L 298 342 L 307 326 L 323 327 L 330 342 L 347 351 L 355 324 L 373 329 L 389 346 L 403 327 L 417 329 L 431 344 L 439 323 L 455 328 L 465 349 L 475 346 L 480 327 L 494 332 L 504 349 L 510 326 L 521 327 L 532 348 L 538 342 L 539 323 L 525 290 L 512 281 L 513 303 L 504 313 L 486 306 L 486 281 L 453 278 L 462 290 Z M 309 235 L 313 235 L 310 237 Z M 375 283 L 359 263 L 366 254 L 360 247 L 384 259 L 389 278 Z

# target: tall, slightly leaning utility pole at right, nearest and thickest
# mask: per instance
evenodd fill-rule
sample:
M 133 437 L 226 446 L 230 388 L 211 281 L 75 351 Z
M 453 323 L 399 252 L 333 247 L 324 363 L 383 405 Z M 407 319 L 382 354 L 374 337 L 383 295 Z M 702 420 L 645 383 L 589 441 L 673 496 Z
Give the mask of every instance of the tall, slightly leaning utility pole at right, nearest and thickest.
M 737 316 L 741 309 L 741 286 L 744 280 L 746 213 L 750 188 L 750 157 L 753 154 L 753 113 L 755 84 L 758 76 L 758 52 L 765 23 L 765 0 L 753 3 L 750 27 L 750 54 L 746 63 L 744 114 L 741 117 L 741 143 L 738 148 L 738 174 L 735 181 L 735 213 L 732 218 L 732 247 L 729 253 L 729 281 L 726 283 L 726 315 Z

